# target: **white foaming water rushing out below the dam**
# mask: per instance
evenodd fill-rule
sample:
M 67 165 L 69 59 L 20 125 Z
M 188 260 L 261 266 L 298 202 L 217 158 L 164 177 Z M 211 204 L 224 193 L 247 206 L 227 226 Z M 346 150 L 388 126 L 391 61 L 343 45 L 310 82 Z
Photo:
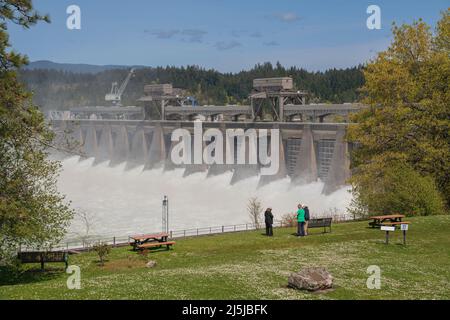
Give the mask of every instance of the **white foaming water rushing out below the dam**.
M 125 164 L 109 167 L 93 165 L 94 159 L 62 161 L 58 181 L 61 193 L 71 206 L 88 216 L 90 235 L 126 236 L 161 230 L 162 198 L 170 201 L 170 229 L 249 223 L 247 203 L 258 197 L 264 207 L 272 207 L 275 219 L 294 212 L 299 202 L 309 206 L 313 217 L 337 209 L 345 214 L 351 201 L 347 188 L 331 195 L 321 194 L 323 183 L 293 187 L 289 179 L 257 188 L 258 177 L 229 185 L 232 173 L 206 178 L 206 173 L 182 177 L 183 170 L 125 170 Z M 68 237 L 85 232 L 81 219 L 75 218 Z

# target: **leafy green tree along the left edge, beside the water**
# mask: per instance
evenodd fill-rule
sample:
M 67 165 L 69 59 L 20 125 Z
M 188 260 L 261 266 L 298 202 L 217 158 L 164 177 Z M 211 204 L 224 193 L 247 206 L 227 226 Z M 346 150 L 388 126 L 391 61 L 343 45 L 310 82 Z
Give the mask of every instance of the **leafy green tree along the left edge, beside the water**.
M 60 164 L 48 159 L 53 133 L 16 78 L 26 57 L 11 50 L 7 23 L 49 21 L 30 0 L 0 0 L 0 261 L 19 245 L 48 247 L 73 212 L 56 189 Z

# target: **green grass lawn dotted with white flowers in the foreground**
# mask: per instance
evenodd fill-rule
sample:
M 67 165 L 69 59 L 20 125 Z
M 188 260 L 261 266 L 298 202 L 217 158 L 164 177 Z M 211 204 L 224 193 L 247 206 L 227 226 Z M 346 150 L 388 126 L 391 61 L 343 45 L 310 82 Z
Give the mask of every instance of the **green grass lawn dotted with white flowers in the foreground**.
M 406 246 L 401 232 L 367 228 L 367 222 L 333 226 L 294 237 L 294 229 L 262 230 L 177 240 L 170 251 L 146 257 L 113 249 L 104 267 L 95 253 L 71 255 L 81 268 L 80 290 L 66 286 L 63 264 L 27 265 L 15 276 L 0 269 L 0 299 L 450 299 L 450 216 L 411 218 Z M 153 269 L 148 260 L 157 261 Z M 381 268 L 381 289 L 367 289 L 367 267 Z M 291 272 L 324 266 L 333 291 L 312 294 L 287 288 Z

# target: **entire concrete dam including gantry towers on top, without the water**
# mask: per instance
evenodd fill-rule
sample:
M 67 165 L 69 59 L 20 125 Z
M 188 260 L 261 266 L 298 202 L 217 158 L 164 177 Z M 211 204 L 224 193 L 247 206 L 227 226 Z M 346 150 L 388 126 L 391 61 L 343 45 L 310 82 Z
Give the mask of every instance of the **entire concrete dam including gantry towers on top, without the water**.
M 286 177 L 295 185 L 320 180 L 324 194 L 347 184 L 352 146 L 345 141 L 346 128 L 350 114 L 364 106 L 307 104 L 308 93 L 294 89 L 289 77 L 255 79 L 248 100 L 250 105 L 197 106 L 196 99 L 184 90 L 171 84 L 153 84 L 144 87 L 138 107 L 81 107 L 55 111 L 49 117 L 59 136 L 70 136 L 79 146 L 76 153 L 95 158 L 95 163 L 110 161 L 114 167 L 126 162 L 127 169 L 144 166 L 144 170 L 163 167 L 165 171 L 181 167 L 185 177 L 197 172 L 207 172 L 211 177 L 232 171 L 232 185 L 254 176 L 260 176 L 258 186 Z M 274 143 L 272 135 L 266 133 L 267 142 L 261 147 L 260 140 L 247 141 L 244 137 L 230 141 L 227 136 L 225 144 L 230 146 L 224 153 L 233 153 L 232 163 L 185 161 L 175 165 L 171 159 L 176 147 L 172 133 L 184 129 L 194 144 L 195 124 L 199 121 L 204 130 L 215 129 L 222 136 L 238 129 L 256 134 L 275 130 L 278 141 Z M 199 144 L 204 148 L 209 145 L 206 140 Z M 274 149 L 277 146 L 276 151 L 272 145 Z M 253 153 L 260 155 L 269 150 L 277 153 L 278 160 L 278 171 L 271 175 L 264 174 L 260 161 L 242 164 L 236 157 L 239 154 L 241 160 L 248 160 Z

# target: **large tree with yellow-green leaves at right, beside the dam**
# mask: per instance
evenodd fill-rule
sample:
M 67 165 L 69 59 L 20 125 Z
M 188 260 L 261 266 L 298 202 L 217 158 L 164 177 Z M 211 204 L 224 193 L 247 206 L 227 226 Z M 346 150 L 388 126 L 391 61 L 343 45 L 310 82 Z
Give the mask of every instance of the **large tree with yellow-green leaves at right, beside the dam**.
M 393 34 L 390 47 L 379 53 L 365 69 L 363 102 L 369 108 L 355 115 L 355 124 L 349 128 L 349 139 L 358 143 L 353 152 L 355 201 L 357 207 L 366 212 L 379 211 L 384 206 L 378 203 L 378 208 L 374 207 L 376 201 L 369 199 L 383 201 L 379 195 L 386 196 L 387 186 L 392 181 L 401 182 L 394 178 L 392 168 L 401 167 L 405 168 L 402 171 L 405 180 L 411 178 L 416 183 L 426 184 L 429 190 L 433 190 L 430 181 L 435 183 L 436 192 L 448 206 L 450 11 L 442 13 L 434 33 L 419 20 L 411 25 L 394 25 Z M 410 169 L 431 180 L 421 181 Z M 370 186 L 370 181 L 373 186 Z M 404 185 L 411 188 L 411 194 L 415 194 L 415 189 L 421 186 L 409 182 L 404 181 Z M 389 190 L 398 191 L 396 188 Z M 390 209 L 398 211 L 404 208 Z M 433 212 L 443 210 L 441 206 Z

